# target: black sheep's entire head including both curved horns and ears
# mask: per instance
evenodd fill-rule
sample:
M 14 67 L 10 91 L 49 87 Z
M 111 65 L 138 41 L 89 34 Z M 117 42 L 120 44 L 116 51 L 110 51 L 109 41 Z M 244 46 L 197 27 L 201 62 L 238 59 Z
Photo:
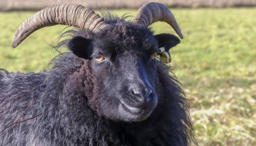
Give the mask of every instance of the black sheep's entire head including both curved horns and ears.
M 169 49 L 180 42 L 172 34 L 154 36 L 148 26 L 158 21 L 170 24 L 183 38 L 172 13 L 160 3 L 143 5 L 133 22 L 104 20 L 81 5 L 60 5 L 28 18 L 15 33 L 13 47 L 44 26 L 65 24 L 92 33 L 90 38 L 74 36 L 67 43 L 73 54 L 90 65 L 93 81 L 89 84 L 93 87 L 92 94 L 86 95 L 89 106 L 111 120 L 141 121 L 158 105 L 161 62 L 156 54 L 162 47 L 168 56 Z

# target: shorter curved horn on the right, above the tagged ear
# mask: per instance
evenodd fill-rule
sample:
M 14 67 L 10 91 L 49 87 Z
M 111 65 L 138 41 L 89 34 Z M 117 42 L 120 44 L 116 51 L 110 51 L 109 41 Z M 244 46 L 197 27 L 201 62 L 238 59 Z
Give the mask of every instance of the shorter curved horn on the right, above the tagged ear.
M 133 20 L 133 23 L 145 26 L 148 28 L 151 24 L 155 22 L 166 22 L 174 29 L 177 34 L 181 38 L 183 38 L 183 34 L 181 33 L 181 29 L 177 21 L 175 20 L 172 12 L 166 7 L 166 5 L 162 3 L 146 3 L 142 7 L 139 8 L 137 16 Z

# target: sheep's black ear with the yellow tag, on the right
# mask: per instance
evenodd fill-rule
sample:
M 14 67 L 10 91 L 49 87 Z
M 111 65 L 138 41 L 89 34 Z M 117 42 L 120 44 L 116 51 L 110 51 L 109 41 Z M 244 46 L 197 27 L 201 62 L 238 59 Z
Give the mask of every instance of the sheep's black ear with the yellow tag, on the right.
M 170 48 L 181 42 L 181 40 L 179 40 L 179 38 L 173 34 L 158 34 L 155 35 L 155 38 L 158 40 L 158 47 L 164 47 L 166 52 L 169 52 Z

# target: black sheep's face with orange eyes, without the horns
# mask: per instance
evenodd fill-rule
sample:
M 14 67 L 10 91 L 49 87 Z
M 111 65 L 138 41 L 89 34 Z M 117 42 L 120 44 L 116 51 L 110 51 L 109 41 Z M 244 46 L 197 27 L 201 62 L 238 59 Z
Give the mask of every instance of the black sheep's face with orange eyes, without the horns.
M 146 120 L 154 111 L 159 64 L 155 56 L 162 44 L 157 39 L 147 28 L 119 22 L 93 38 L 75 36 L 69 41 L 69 49 L 90 65 L 94 87 L 86 96 L 100 116 L 131 122 Z

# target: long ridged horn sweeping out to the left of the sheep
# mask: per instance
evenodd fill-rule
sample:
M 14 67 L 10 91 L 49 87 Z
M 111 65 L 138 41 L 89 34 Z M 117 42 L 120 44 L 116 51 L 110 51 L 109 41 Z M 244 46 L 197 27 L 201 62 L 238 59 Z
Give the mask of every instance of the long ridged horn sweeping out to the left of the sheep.
M 29 17 L 16 30 L 12 47 L 15 48 L 18 46 L 32 32 L 46 26 L 55 26 L 57 24 L 74 26 L 92 32 L 97 32 L 108 26 L 104 22 L 103 17 L 100 17 L 100 15 L 82 5 L 69 4 L 46 7 Z

